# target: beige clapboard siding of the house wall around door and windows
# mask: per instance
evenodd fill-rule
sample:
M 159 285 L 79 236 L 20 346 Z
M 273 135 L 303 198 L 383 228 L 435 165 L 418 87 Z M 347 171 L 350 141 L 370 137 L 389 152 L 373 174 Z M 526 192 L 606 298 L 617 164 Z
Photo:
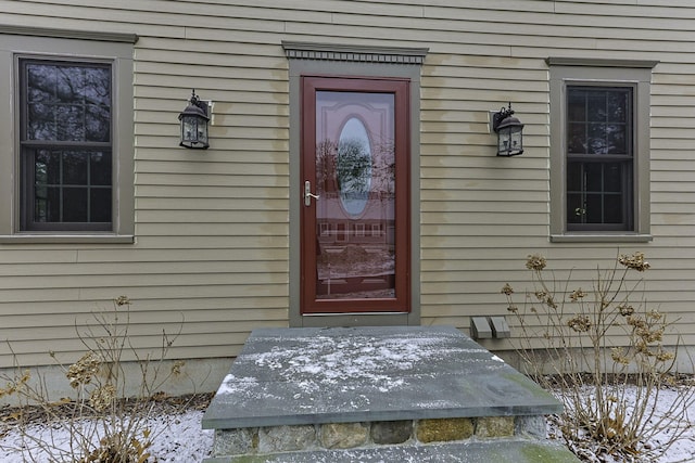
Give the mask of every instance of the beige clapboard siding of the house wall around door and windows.
M 292 185 L 282 40 L 429 49 L 414 166 L 422 324 L 467 331 L 471 316 L 506 314 L 500 290 L 529 284 L 528 254 L 548 257 L 560 276 L 574 269 L 581 280 L 597 263 L 611 266 L 620 248 L 647 255 L 646 299 L 678 319 L 683 342 L 695 344 L 695 8 L 687 1 L 252 3 L 0 0 L 5 34 L 21 26 L 38 35 L 58 28 L 138 36 L 135 237 L 0 240 L 0 339 L 11 342 L 22 364 L 50 363 L 48 350 L 74 360 L 81 349 L 76 321 L 119 295 L 132 300 L 138 347 L 156 348 L 162 330 L 184 321 L 174 358 L 228 358 L 251 330 L 288 325 Z M 11 52 L 1 35 L 0 49 Z M 645 185 L 650 241 L 549 240 L 551 56 L 658 62 Z M 177 116 L 191 87 L 214 102 L 204 152 L 178 147 Z M 11 91 L 0 82 L 0 92 Z M 509 101 L 526 125 L 526 152 L 500 158 L 490 112 Z M 0 130 L 0 156 L 15 156 L 12 128 Z M 11 181 L 2 175 L 1 182 Z M 510 348 L 505 340 L 485 346 Z M 1 346 L 0 368 L 12 363 Z

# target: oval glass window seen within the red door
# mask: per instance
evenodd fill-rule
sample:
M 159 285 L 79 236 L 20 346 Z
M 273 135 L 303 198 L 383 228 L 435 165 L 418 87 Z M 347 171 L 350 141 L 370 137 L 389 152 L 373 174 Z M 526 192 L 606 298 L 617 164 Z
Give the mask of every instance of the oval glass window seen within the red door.
M 372 159 L 367 129 L 356 117 L 350 118 L 340 132 L 337 160 L 340 202 L 349 215 L 359 216 L 369 201 Z

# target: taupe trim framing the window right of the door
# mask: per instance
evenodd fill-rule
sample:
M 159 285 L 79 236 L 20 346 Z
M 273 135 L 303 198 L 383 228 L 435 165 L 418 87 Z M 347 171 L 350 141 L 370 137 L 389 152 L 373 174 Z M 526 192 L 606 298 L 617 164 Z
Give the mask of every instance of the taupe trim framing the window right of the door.
M 655 61 L 549 57 L 551 83 L 551 241 L 631 243 L 652 241 L 649 207 L 650 81 Z M 632 231 L 568 231 L 566 89 L 574 85 L 630 85 L 634 92 L 634 178 Z

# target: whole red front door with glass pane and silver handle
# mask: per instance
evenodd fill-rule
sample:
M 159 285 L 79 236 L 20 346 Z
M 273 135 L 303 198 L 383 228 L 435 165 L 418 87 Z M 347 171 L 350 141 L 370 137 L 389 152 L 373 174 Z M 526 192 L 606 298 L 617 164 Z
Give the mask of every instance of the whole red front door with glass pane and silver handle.
M 302 313 L 409 311 L 408 91 L 302 78 Z

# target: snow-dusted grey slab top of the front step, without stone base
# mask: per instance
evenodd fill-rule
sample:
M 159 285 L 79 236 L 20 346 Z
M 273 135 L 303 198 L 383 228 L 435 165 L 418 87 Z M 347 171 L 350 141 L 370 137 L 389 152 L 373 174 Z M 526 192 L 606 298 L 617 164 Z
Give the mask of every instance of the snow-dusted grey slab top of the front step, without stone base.
M 547 391 L 453 326 L 255 330 L 203 428 L 561 411 Z

